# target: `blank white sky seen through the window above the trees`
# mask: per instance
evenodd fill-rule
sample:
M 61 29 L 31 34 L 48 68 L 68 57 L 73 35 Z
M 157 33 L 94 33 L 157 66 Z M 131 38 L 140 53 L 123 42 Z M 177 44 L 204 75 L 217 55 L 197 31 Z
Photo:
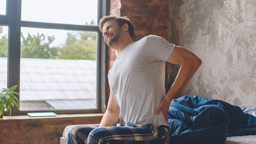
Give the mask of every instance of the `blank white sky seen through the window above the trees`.
M 4 14 L 6 0 L 0 0 L 0 14 Z M 97 21 L 98 0 L 22 0 L 21 20 L 47 23 L 64 23 L 84 25 L 92 20 Z M 27 37 L 30 35 L 54 35 L 55 40 L 50 46 L 61 46 L 67 38 L 67 30 L 21 28 Z M 8 26 L 3 26 L 3 33 L 8 33 Z

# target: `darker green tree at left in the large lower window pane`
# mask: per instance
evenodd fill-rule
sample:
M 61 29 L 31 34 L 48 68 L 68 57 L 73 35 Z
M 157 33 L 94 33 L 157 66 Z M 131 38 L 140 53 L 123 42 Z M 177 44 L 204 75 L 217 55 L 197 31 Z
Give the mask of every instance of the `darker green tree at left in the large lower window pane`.
M 50 48 L 54 41 L 54 36 L 48 36 L 45 42 L 44 34 L 30 35 L 24 37 L 21 33 L 22 42 L 20 46 L 20 56 L 22 58 L 58 58 L 58 47 Z

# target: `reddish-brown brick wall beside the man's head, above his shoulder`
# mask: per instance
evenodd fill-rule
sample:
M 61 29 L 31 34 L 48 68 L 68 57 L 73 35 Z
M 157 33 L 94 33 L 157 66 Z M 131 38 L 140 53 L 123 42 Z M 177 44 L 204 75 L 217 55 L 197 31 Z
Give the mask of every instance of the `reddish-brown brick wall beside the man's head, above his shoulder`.
M 134 40 L 147 35 L 169 40 L 169 0 L 121 0 L 120 15 L 134 24 Z

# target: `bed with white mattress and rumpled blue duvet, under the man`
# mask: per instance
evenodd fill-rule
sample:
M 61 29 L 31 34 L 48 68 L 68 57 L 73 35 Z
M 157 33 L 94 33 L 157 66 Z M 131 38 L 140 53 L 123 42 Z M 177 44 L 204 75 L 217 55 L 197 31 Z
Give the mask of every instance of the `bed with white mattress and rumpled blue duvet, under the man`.
M 193 104 L 193 106 L 191 104 Z M 203 108 L 201 108 L 202 105 Z M 217 109 L 221 110 L 221 112 L 215 112 L 214 109 L 216 109 L 216 107 L 213 107 L 214 109 L 212 110 L 212 105 L 221 105 L 221 107 L 217 106 Z M 205 110 L 205 106 L 210 106 L 211 108 L 208 113 L 206 112 L 207 110 Z M 198 126 L 196 127 L 197 129 L 195 129 L 195 127 L 186 126 L 189 122 L 186 118 L 189 117 L 191 119 L 189 114 L 186 114 L 186 110 L 191 112 L 191 108 L 197 110 L 200 108 L 199 111 L 205 112 L 201 114 L 205 116 L 205 118 L 201 116 L 198 118 L 192 118 L 192 120 L 199 119 Z M 168 121 L 170 129 L 173 132 L 172 143 L 256 144 L 256 106 L 237 107 L 224 101 L 186 95 L 172 101 L 169 111 L 172 112 L 172 115 L 169 115 Z M 228 117 L 225 113 L 227 113 Z M 246 127 L 244 127 L 244 124 L 239 125 L 241 124 L 241 121 L 236 121 L 241 119 L 241 114 L 246 115 L 245 118 L 250 119 L 250 122 L 248 122 Z M 180 115 L 183 115 L 183 117 Z M 198 113 L 194 111 L 193 115 L 198 115 Z M 226 120 L 227 118 L 231 118 L 231 120 Z M 212 120 L 216 119 L 220 119 L 221 122 L 215 124 L 215 121 Z M 205 125 L 205 127 L 202 125 Z M 73 126 L 67 126 L 64 129 L 63 137 L 61 137 L 61 144 L 67 144 L 67 133 L 72 127 Z M 225 135 L 225 132 L 228 137 L 223 136 Z

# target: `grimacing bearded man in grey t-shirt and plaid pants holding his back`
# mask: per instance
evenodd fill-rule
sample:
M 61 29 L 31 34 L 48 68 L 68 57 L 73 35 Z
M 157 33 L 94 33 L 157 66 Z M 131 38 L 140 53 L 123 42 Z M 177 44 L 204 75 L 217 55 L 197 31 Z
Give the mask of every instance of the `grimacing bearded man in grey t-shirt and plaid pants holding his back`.
M 99 29 L 116 52 L 108 74 L 108 107 L 100 125 L 73 127 L 69 143 L 168 144 L 169 105 L 201 65 L 200 58 L 155 35 L 133 41 L 134 26 L 126 17 L 103 17 Z M 181 65 L 167 94 L 165 61 Z M 116 126 L 118 120 L 120 126 Z

